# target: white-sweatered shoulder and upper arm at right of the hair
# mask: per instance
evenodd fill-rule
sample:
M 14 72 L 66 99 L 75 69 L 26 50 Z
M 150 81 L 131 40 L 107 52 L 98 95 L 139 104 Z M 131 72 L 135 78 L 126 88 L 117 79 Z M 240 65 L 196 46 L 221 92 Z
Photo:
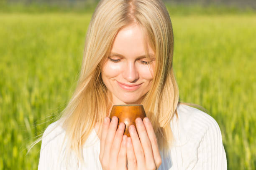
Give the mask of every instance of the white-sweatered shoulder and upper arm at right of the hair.
M 206 112 L 184 104 L 177 107 L 177 113 L 176 121 L 171 123 L 175 141 L 173 159 L 179 158 L 183 169 L 209 169 L 207 166 L 213 164 L 220 167 L 217 169 L 226 169 L 225 150 L 216 120 Z

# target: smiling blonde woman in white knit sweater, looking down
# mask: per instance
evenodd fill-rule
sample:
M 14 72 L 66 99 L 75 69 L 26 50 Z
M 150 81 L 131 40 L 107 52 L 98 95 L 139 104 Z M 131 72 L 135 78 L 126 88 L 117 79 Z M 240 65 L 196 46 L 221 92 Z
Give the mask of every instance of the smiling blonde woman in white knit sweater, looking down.
M 223 170 L 218 123 L 179 102 L 172 23 L 161 0 L 101 0 L 92 15 L 79 81 L 42 138 L 39 170 Z M 142 104 L 129 127 L 113 105 Z

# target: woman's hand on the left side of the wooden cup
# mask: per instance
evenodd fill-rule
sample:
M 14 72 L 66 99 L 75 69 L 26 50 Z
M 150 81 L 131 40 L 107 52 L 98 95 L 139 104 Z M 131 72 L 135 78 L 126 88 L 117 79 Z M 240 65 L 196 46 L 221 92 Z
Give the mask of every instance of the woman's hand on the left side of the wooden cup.
M 103 170 L 127 170 L 126 167 L 126 139 L 123 135 L 125 124 L 118 126 L 118 117 L 113 116 L 110 122 L 105 117 L 100 139 L 100 163 Z

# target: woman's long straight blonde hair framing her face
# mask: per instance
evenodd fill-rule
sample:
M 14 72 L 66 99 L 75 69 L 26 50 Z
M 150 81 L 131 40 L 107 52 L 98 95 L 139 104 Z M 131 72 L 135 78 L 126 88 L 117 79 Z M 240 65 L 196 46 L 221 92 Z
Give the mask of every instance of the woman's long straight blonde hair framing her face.
M 96 122 L 101 124 L 112 106 L 101 78 L 102 65 L 118 31 L 132 24 L 138 24 L 143 32 L 146 55 L 148 42 L 156 57 L 154 80 L 141 104 L 159 149 L 166 155 L 172 146 L 170 121 L 177 114 L 179 89 L 172 67 L 174 40 L 169 13 L 161 0 L 101 0 L 87 30 L 77 87 L 59 121 L 66 132 L 67 149 L 74 150 L 79 160 L 83 160 L 80 150 Z

